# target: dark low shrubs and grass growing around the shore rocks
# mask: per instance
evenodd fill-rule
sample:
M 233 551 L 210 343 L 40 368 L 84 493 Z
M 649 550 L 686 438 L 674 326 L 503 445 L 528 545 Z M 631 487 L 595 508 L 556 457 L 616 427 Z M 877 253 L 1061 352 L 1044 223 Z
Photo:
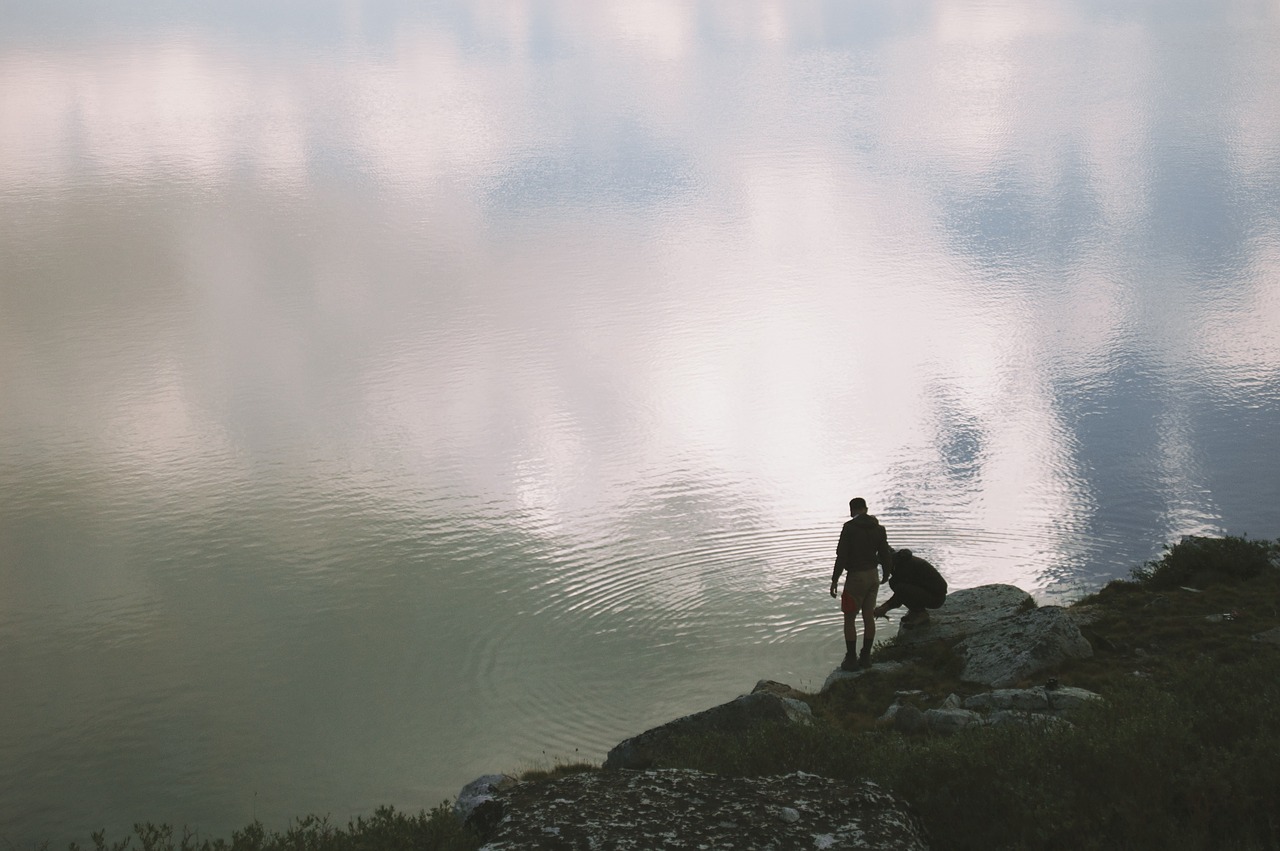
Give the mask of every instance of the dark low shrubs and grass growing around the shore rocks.
M 986 727 L 905 736 L 878 723 L 901 696 L 920 708 L 979 688 L 938 642 L 915 664 L 799 695 L 819 723 L 685 740 L 663 764 L 731 775 L 804 770 L 872 779 L 920 815 L 932 847 L 1280 848 L 1280 648 L 1253 636 L 1280 626 L 1280 541 L 1188 537 L 1083 600 L 1094 656 L 1052 676 L 1106 696 L 1062 728 Z M 877 660 L 905 655 L 892 644 Z M 1029 682 L 1023 685 L 1039 685 Z M 543 772 L 538 779 L 572 765 Z M 445 805 L 390 809 L 337 829 L 323 819 L 285 833 L 260 824 L 196 842 L 140 825 L 96 851 L 462 850 L 480 845 Z M 73 846 L 73 851 L 74 846 Z

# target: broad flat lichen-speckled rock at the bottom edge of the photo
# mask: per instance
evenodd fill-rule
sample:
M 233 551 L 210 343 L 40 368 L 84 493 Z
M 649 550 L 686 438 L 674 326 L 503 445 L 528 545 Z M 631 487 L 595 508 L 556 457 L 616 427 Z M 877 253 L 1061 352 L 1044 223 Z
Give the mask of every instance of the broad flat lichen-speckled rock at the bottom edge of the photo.
M 924 828 L 870 782 L 815 774 L 589 772 L 520 783 L 472 819 L 481 851 L 548 848 L 881 848 L 927 851 Z

